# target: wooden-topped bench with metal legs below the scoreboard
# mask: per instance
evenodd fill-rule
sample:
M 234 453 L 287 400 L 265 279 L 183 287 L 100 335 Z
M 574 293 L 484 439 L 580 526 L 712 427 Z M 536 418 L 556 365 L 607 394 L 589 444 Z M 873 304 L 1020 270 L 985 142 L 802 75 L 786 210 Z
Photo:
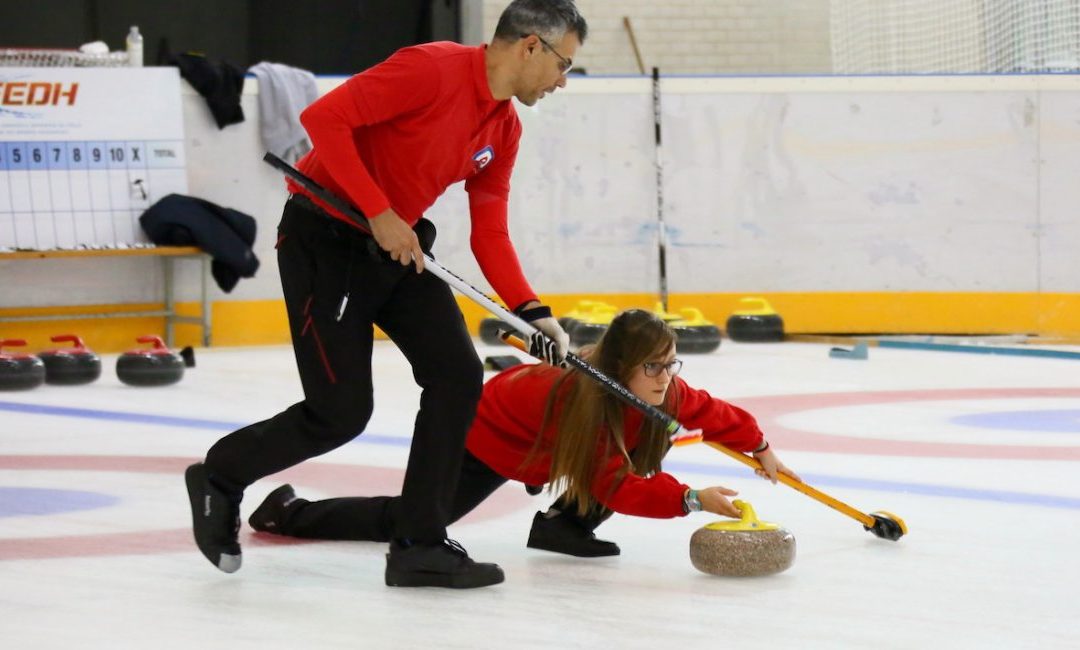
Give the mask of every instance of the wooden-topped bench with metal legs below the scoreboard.
M 204 347 L 211 344 L 211 310 L 208 298 L 210 256 L 198 246 L 150 246 L 146 248 L 100 248 L 75 250 L 15 250 L 0 253 L 0 261 L 15 259 L 86 259 L 98 257 L 159 257 L 164 282 L 162 287 L 163 309 L 118 312 L 80 312 L 64 314 L 42 314 L 29 316 L 0 316 L 2 322 L 15 321 L 67 321 L 73 319 L 130 319 L 141 316 L 164 316 L 165 344 L 173 344 L 173 329 L 177 323 L 189 323 L 202 327 Z M 178 259 L 198 260 L 201 279 L 202 311 L 198 316 L 181 316 L 176 313 L 176 298 L 173 284 L 173 265 Z

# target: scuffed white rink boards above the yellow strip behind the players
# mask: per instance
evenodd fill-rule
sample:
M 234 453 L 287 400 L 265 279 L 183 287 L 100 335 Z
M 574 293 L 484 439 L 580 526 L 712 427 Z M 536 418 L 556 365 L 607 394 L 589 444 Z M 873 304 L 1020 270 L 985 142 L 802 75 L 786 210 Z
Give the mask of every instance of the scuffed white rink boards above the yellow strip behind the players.
M 325 89 L 339 82 L 323 79 Z M 672 293 L 1080 290 L 1080 79 L 664 80 Z M 255 216 L 262 268 L 216 300 L 280 297 L 285 198 L 247 121 L 219 131 L 184 96 L 190 192 Z M 525 124 L 511 230 L 537 290 L 658 286 L 647 79 L 575 79 Z M 435 253 L 486 287 L 461 189 L 429 213 Z M 150 301 L 147 260 L 5 262 L 0 306 Z M 193 270 L 180 275 L 191 300 Z

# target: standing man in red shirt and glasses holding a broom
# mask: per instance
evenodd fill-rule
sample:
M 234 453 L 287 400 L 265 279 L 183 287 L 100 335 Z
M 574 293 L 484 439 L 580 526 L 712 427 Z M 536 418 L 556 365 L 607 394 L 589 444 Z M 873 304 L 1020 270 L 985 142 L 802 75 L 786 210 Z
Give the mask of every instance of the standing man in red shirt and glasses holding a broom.
M 588 27 L 572 0 L 514 0 L 489 45 L 406 48 L 321 97 L 300 116 L 313 145 L 301 171 L 347 199 L 370 235 L 293 192 L 278 230 L 278 265 L 305 400 L 218 441 L 188 468 L 195 543 L 217 568 L 240 568 L 240 501 L 259 478 L 357 436 L 374 408 L 373 325 L 408 358 L 422 387 L 402 498 L 387 554 L 395 586 L 477 587 L 502 582 L 447 539 L 465 433 L 483 366 L 449 287 L 423 273 L 434 227 L 422 219 L 465 181 L 471 246 L 496 293 L 542 335 L 532 352 L 565 358 L 568 337 L 525 280 L 507 228 L 521 123 L 566 85 Z

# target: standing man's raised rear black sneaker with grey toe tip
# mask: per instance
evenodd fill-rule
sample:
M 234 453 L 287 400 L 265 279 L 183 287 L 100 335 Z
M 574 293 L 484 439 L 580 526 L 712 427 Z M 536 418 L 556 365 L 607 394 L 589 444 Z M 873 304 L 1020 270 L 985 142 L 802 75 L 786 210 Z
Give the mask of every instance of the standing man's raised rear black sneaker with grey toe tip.
M 210 564 L 226 573 L 240 569 L 240 499 L 231 497 L 210 480 L 202 463 L 184 473 L 191 501 L 191 524 L 195 545 Z

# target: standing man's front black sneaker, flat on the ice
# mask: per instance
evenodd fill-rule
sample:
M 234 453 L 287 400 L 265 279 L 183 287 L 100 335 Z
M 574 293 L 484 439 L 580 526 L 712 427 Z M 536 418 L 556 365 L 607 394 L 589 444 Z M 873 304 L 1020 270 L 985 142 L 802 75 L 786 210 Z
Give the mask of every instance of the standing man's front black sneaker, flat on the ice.
M 499 565 L 473 561 L 454 540 L 409 546 L 393 541 L 387 553 L 388 586 L 469 590 L 499 584 L 504 579 Z

